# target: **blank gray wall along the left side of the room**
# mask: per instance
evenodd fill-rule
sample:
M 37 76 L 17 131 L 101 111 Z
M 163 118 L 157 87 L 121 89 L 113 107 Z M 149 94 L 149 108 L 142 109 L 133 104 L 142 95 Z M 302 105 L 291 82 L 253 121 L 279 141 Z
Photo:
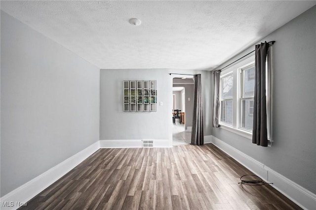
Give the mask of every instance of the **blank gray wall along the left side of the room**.
M 99 69 L 1 11 L 1 196 L 99 140 Z

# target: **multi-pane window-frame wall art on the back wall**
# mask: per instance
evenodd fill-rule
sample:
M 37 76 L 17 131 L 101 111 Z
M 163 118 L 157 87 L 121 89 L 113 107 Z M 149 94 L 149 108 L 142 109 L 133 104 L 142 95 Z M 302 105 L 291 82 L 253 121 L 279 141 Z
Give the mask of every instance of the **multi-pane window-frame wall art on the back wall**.
M 156 80 L 124 80 L 123 81 L 124 112 L 156 112 L 157 81 Z

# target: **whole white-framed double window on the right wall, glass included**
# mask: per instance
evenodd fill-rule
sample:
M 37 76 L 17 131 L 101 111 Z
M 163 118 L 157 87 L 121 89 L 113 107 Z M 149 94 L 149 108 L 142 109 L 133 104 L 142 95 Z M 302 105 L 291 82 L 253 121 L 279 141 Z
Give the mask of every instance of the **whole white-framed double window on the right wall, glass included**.
M 269 58 L 269 56 L 268 56 Z M 246 138 L 252 138 L 254 56 L 221 72 L 220 80 L 220 125 Z M 271 59 L 271 57 L 270 57 Z M 267 128 L 268 139 L 272 136 L 272 64 L 266 62 Z

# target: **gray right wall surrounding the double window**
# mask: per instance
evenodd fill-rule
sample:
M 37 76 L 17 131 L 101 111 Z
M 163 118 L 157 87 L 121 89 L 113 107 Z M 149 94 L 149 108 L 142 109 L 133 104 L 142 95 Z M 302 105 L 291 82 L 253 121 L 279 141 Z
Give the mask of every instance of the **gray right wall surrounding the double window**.
M 315 14 L 316 6 L 261 40 L 276 41 L 273 51 L 273 146 L 256 146 L 251 140 L 227 130 L 212 130 L 215 137 L 313 193 L 316 193 Z M 253 49 L 254 45 L 222 67 Z

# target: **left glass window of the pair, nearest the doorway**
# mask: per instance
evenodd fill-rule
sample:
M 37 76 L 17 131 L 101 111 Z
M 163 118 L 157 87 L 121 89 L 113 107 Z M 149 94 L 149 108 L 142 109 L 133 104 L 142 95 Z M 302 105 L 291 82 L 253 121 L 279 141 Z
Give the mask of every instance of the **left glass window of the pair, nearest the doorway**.
M 221 122 L 233 124 L 233 74 L 221 77 Z

